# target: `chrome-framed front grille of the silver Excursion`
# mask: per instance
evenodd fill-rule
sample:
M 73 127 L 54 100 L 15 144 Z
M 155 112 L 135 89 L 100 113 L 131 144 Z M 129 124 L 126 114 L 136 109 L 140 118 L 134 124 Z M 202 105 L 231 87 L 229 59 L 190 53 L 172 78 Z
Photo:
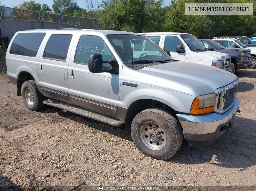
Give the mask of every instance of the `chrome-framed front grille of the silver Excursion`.
M 218 113 L 223 113 L 232 103 L 234 103 L 238 90 L 238 79 L 223 88 L 218 88 L 216 93 L 216 103 L 214 110 Z

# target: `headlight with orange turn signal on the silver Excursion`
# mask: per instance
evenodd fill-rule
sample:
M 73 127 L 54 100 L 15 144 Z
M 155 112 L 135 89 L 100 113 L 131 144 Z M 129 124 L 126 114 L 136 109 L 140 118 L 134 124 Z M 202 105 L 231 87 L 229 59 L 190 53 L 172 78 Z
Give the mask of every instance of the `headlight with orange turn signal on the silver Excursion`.
M 215 93 L 196 97 L 191 105 L 190 113 L 194 115 L 199 115 L 213 112 L 215 100 Z

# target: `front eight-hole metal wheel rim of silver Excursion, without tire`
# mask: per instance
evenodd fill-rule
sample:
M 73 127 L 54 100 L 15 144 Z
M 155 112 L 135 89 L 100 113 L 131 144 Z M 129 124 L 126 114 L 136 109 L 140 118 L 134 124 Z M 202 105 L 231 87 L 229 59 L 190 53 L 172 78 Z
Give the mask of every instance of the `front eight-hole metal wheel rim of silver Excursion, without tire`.
M 155 123 L 145 123 L 140 131 L 143 143 L 152 150 L 159 150 L 165 146 L 165 131 Z

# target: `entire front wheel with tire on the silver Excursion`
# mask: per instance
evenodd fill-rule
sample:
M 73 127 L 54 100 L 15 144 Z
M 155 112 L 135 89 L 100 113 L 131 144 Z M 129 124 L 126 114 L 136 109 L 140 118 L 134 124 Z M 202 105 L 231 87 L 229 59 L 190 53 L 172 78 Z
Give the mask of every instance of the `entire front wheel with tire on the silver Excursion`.
M 150 108 L 133 119 L 131 138 L 143 154 L 167 160 L 181 147 L 183 134 L 174 116 L 160 108 Z

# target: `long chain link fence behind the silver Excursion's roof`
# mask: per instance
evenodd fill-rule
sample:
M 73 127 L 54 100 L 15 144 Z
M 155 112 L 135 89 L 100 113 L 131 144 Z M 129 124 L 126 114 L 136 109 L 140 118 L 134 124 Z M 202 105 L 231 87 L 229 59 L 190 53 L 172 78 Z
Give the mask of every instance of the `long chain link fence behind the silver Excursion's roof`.
M 99 27 L 98 19 L 72 17 L 3 6 L 0 6 L 1 13 L 0 45 L 8 44 L 7 40 L 11 40 L 13 35 L 20 30 L 50 28 L 97 29 Z

